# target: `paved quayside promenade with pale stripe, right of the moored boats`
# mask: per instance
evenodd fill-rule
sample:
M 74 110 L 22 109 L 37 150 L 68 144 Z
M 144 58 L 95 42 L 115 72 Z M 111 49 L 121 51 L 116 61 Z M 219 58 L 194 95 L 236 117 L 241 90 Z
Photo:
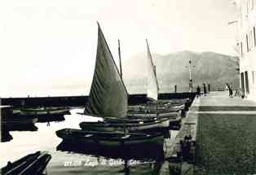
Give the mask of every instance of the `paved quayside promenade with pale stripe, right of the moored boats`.
M 256 171 L 256 103 L 211 92 L 196 98 L 196 174 L 252 174 Z M 200 172 L 200 173 L 199 173 Z

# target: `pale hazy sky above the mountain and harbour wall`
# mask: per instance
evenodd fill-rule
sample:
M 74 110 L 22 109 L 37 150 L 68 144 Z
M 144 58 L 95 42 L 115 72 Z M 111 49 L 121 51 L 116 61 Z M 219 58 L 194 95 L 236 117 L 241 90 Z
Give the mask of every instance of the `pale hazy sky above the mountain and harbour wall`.
M 234 55 L 230 0 L 16 0 L 0 2 L 0 96 L 88 94 L 99 21 L 117 60 L 152 52 Z M 76 90 L 75 90 L 76 89 Z

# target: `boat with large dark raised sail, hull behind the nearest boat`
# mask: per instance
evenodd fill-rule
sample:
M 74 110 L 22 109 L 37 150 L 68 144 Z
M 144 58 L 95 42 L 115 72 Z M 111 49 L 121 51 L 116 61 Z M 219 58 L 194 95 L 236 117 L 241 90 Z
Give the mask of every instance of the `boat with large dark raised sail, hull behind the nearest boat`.
M 115 131 L 124 127 L 128 127 L 128 130 L 158 128 L 161 125 L 169 127 L 168 118 L 158 120 L 153 117 L 151 120 L 148 118 L 131 120 L 127 117 L 127 110 L 128 93 L 126 86 L 99 27 L 95 73 L 84 114 L 102 117 L 104 122 L 82 122 L 80 126 L 86 130 L 101 131 Z M 109 117 L 112 117 L 112 120 L 108 120 Z

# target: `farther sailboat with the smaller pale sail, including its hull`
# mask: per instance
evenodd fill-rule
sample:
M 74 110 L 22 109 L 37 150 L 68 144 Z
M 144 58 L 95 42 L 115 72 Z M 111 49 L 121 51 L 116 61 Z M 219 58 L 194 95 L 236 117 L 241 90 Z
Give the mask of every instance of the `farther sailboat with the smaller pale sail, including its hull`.
M 147 104 L 137 105 L 137 106 L 130 106 L 128 107 L 127 116 L 130 118 L 150 118 L 156 117 L 157 118 L 166 118 L 170 117 L 173 120 L 177 120 L 179 116 L 179 110 L 181 109 L 180 106 L 173 106 L 170 102 L 161 102 L 159 104 L 158 101 L 158 91 L 159 86 L 157 82 L 157 72 L 156 66 L 152 62 L 152 55 L 148 46 L 147 42 L 147 63 L 148 63 L 148 90 L 147 90 L 147 98 L 151 101 Z M 179 117 L 178 117 L 179 118 Z

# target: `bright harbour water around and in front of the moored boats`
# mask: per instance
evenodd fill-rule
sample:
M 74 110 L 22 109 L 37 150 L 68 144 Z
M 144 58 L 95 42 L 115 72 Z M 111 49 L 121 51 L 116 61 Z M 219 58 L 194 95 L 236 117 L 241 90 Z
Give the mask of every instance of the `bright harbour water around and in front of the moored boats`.
M 35 151 L 49 151 L 52 159 L 46 168 L 48 174 L 159 174 L 164 162 L 159 161 L 159 157 L 156 158 L 153 154 L 147 158 L 143 155 L 143 150 L 137 152 L 138 154 L 134 153 L 136 159 L 132 159 L 130 153 L 122 155 L 123 157 L 120 155 L 111 157 L 108 151 L 91 154 L 90 149 L 80 148 L 77 151 L 74 147 L 68 146 L 68 143 L 62 142 L 62 139 L 55 135 L 56 130 L 79 129 L 79 123 L 82 121 L 99 120 L 95 117 L 77 115 L 78 111 L 72 110 L 72 115 L 65 116 L 64 121 L 51 122 L 50 126 L 47 123 L 36 123 L 37 132 L 11 131 L 13 140 L 0 143 L 0 167 L 5 166 L 7 161 L 18 160 Z M 178 131 L 172 131 L 170 139 L 173 139 L 177 133 Z M 154 150 L 152 153 L 157 153 L 156 155 L 159 156 L 162 150 Z

